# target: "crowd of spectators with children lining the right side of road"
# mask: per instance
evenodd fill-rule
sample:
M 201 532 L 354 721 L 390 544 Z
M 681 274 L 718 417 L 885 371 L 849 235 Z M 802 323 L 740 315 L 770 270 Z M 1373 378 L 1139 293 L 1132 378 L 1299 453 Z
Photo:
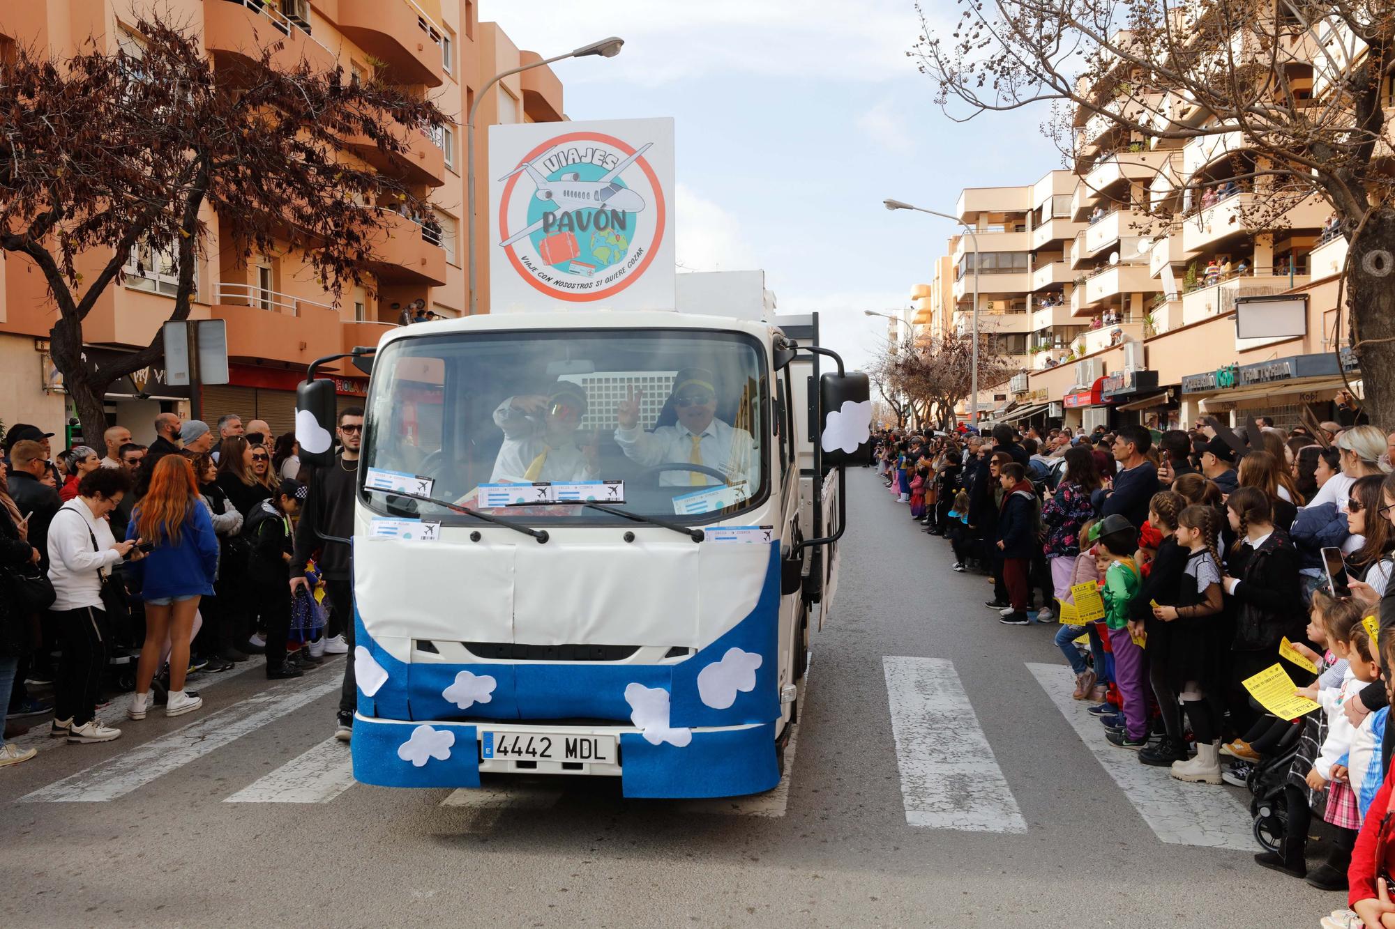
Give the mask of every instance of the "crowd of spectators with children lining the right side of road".
M 873 455 L 951 569 L 989 577 L 1000 624 L 1056 628 L 1110 745 L 1247 788 L 1256 862 L 1348 893 L 1322 926 L 1395 926 L 1395 432 L 1346 395 L 1336 410 L 1289 430 L 887 431 Z M 1275 664 L 1317 709 L 1254 699 Z

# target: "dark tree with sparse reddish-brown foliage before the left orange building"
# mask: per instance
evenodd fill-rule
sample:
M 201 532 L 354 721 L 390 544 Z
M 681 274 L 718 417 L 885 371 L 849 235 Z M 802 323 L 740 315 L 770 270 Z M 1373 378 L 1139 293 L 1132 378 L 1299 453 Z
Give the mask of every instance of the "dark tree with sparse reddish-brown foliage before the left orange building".
M 149 20 L 135 31 L 140 49 L 93 42 L 61 60 L 18 49 L 0 63 L 0 250 L 43 275 L 53 361 L 88 437 L 106 427 L 107 385 L 162 356 L 156 336 L 100 374 L 82 364 L 82 324 L 133 252 L 137 271 L 149 257 L 177 268 L 169 318 L 188 318 L 195 259 L 209 247 L 201 213 L 212 208 L 236 218 L 223 223 L 222 257 L 289 246 L 338 296 L 364 282 L 386 236 L 374 206 L 430 215 L 391 172 L 346 158 L 346 139 L 405 158 L 403 127 L 446 119 L 378 80 L 276 68 L 279 43 L 254 67 L 215 71 L 193 31 Z

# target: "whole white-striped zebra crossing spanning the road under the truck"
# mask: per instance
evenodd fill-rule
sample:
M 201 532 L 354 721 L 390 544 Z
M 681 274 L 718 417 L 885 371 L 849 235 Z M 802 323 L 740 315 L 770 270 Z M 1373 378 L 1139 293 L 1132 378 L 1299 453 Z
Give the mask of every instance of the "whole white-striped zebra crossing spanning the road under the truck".
M 887 714 L 882 717 L 882 725 L 890 724 L 887 756 L 894 757 L 894 777 L 898 781 L 905 827 L 1003 836 L 1045 829 L 1032 824 L 1024 815 L 1020 798 L 1014 795 L 1003 771 L 1004 762 L 1023 764 L 1023 752 L 1030 752 L 1030 746 L 990 743 L 954 663 L 947 658 L 886 656 L 882 665 L 886 709 L 880 711 Z M 1060 714 L 1060 732 L 1078 738 L 1078 764 L 1099 764 L 1159 841 L 1254 849 L 1247 798 L 1242 799 L 1240 792 L 1182 784 L 1170 780 L 1163 769 L 1138 764 L 1131 752 L 1108 745 L 1098 723 L 1085 713 L 1087 706 L 1070 699 L 1069 675 L 1062 665 L 1028 663 L 1025 670 L 1045 690 L 1049 706 Z M 232 675 L 222 679 L 229 677 Z M 18 802 L 119 802 L 318 700 L 328 706 L 338 689 L 336 674 L 276 683 L 31 790 Z M 124 702 L 117 702 L 106 713 L 124 713 Z M 315 707 L 314 711 L 321 713 L 324 709 Z M 877 707 L 869 707 L 865 713 L 877 711 Z M 1048 725 L 1052 725 L 1049 717 Z M 672 808 L 685 815 L 777 820 L 787 816 L 791 803 L 817 803 L 815 774 L 805 773 L 802 780 L 795 780 L 799 778 L 797 746 L 801 738 L 810 738 L 808 734 L 801 735 L 799 730 L 795 725 L 791 731 L 785 749 L 785 776 L 774 790 L 755 796 L 677 801 Z M 46 727 L 40 727 L 40 734 L 29 739 L 47 741 L 43 731 Z M 285 735 L 286 727 L 278 727 L 278 731 Z M 304 728 L 296 731 L 303 732 Z M 816 732 L 817 730 L 812 738 L 817 738 Z M 312 738 L 321 737 L 317 734 Z M 53 745 L 61 743 L 54 741 Z M 285 752 L 285 748 L 278 742 L 271 750 Z M 241 777 L 226 778 L 226 795 L 215 791 L 212 799 L 223 803 L 318 805 L 336 802 L 354 791 L 372 790 L 353 780 L 349 746 L 343 742 L 322 738 L 306 748 L 296 746 L 292 741 L 290 750 L 294 755 L 283 757 L 279 766 L 266 773 L 251 777 L 251 771 L 247 771 Z M 273 763 L 275 760 L 266 766 Z M 462 816 L 455 822 L 460 829 L 488 833 L 509 810 L 550 810 L 568 802 L 569 795 L 575 802 L 579 795 L 573 795 L 573 791 L 597 787 L 604 794 L 604 785 L 590 783 L 587 788 L 582 788 L 572 778 L 492 777 L 485 778 L 485 785 L 480 790 L 381 792 L 379 796 L 413 796 L 413 802 L 458 810 Z M 615 795 L 618 796 L 618 790 Z

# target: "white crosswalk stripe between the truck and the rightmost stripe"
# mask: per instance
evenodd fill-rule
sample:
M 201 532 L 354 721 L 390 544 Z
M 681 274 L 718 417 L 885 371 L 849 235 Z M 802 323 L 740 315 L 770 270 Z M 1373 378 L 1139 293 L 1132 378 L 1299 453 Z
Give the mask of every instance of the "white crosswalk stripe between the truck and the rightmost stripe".
M 905 822 L 975 833 L 1025 833 L 954 663 L 886 656 Z

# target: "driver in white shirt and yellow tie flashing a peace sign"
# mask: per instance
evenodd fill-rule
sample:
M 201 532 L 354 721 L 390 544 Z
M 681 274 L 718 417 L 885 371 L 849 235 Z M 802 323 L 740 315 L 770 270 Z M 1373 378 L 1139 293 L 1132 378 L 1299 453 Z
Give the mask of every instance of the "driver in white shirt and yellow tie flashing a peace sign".
M 629 460 L 649 467 L 677 464 L 660 474 L 665 487 L 710 487 L 721 484 L 711 471 L 724 474 L 727 483 L 745 484 L 753 494 L 759 481 L 755 439 L 751 432 L 717 418 L 717 378 L 706 368 L 684 368 L 674 375 L 674 389 L 668 395 L 660 421 L 672 411 L 672 425 L 660 425 L 653 432 L 639 427 L 639 403 L 643 391 L 631 388 L 628 399 L 615 406 L 615 444 Z M 684 464 L 700 466 L 685 469 Z

